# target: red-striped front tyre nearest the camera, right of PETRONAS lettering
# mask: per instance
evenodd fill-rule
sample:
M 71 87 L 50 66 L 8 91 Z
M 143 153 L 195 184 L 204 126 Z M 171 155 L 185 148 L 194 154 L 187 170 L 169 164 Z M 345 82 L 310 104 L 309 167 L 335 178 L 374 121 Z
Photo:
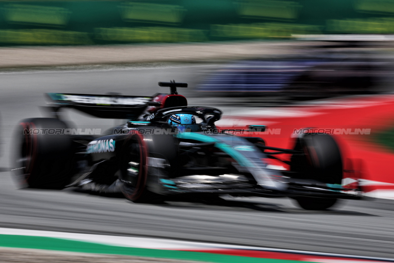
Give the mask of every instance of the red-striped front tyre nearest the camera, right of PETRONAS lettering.
M 151 182 L 149 189 L 148 158 L 150 154 L 165 156 L 173 164 L 176 150 L 172 135 L 143 135 L 139 132 L 130 134 L 123 146 L 120 157 L 121 191 L 125 197 L 135 203 L 162 203 L 164 195 L 151 191 L 156 182 Z

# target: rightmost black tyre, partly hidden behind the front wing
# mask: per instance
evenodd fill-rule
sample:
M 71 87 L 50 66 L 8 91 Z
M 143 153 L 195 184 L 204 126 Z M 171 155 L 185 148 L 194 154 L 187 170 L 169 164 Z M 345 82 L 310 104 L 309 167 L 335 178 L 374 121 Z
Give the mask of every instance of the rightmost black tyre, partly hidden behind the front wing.
M 318 180 L 322 183 L 340 184 L 342 182 L 342 157 L 338 144 L 328 134 L 305 134 L 297 139 L 290 170 L 295 178 Z M 334 206 L 336 198 L 294 198 L 307 210 L 324 210 Z

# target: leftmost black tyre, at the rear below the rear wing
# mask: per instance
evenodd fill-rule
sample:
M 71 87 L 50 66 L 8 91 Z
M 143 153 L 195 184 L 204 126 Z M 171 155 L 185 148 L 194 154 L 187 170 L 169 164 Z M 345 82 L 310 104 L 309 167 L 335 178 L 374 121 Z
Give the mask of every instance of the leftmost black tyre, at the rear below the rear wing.
M 63 189 L 74 169 L 67 125 L 54 118 L 21 120 L 15 138 L 14 164 L 22 187 Z

